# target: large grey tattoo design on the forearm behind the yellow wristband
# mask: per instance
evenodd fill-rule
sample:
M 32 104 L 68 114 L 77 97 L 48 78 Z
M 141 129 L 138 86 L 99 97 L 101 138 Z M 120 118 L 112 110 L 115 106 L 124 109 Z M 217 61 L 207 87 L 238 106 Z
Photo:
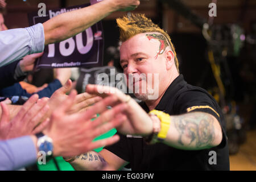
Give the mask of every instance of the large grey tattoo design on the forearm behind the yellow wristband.
M 213 118 L 208 114 L 188 113 L 175 116 L 173 121 L 181 146 L 204 147 L 214 140 Z

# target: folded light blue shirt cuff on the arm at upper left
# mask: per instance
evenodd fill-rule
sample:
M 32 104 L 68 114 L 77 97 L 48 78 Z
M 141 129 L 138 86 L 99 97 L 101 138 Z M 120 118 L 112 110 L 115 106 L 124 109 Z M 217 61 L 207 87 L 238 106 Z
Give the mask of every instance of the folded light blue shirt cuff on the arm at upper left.
M 44 27 L 42 23 L 27 27 L 26 30 L 31 36 L 31 50 L 29 54 L 44 51 Z

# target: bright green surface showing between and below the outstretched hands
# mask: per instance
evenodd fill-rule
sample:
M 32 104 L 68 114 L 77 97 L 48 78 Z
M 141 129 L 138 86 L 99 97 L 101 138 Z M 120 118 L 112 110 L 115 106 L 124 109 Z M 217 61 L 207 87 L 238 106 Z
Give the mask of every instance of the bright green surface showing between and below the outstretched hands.
M 99 115 L 97 114 L 97 117 L 98 116 Z M 94 120 L 94 119 L 92 119 L 92 120 Z M 112 129 L 112 130 L 108 131 L 107 133 L 96 137 L 93 141 L 112 137 L 115 133 L 117 133 L 117 130 Z M 94 151 L 100 152 L 102 150 L 102 148 L 103 147 L 96 148 L 96 149 L 94 149 Z M 57 166 L 59 166 L 60 171 L 75 171 L 75 169 L 71 166 L 71 164 L 65 162 L 65 160 L 61 156 L 56 157 L 55 161 L 57 163 Z M 57 171 L 58 170 L 53 159 L 46 162 L 46 164 L 37 164 L 37 166 L 40 171 Z

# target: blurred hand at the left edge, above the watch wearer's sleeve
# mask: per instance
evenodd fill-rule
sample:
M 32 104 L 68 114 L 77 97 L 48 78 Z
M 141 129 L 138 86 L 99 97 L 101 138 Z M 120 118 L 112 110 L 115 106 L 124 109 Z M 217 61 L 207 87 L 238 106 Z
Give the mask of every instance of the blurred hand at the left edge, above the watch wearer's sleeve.
M 38 95 L 34 94 L 22 106 L 18 114 L 9 121 L 9 110 L 4 102 L 1 102 L 2 118 L 0 121 L 0 139 L 10 139 L 31 135 L 42 131 L 48 124 L 48 119 L 41 123 L 42 118 L 47 113 L 48 98 L 38 100 Z

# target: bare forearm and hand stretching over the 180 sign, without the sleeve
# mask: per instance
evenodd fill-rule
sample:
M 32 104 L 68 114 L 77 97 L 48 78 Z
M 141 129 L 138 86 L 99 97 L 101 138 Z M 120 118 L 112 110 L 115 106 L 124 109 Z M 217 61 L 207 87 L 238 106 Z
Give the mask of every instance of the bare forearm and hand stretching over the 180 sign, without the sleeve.
M 44 45 L 71 38 L 114 11 L 135 9 L 138 5 L 138 0 L 105 0 L 80 10 L 55 16 L 43 23 Z

